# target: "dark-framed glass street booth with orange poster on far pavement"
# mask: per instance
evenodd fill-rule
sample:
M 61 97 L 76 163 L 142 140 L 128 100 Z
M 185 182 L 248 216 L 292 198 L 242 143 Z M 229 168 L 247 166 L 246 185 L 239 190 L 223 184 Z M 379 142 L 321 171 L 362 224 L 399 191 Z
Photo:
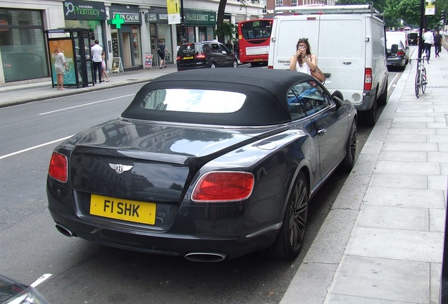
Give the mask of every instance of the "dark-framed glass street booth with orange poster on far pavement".
M 81 27 L 66 27 L 46 30 L 49 49 L 52 86 L 57 87 L 54 70 L 54 50 L 61 49 L 66 56 L 68 71 L 64 75 L 64 87 L 88 87 L 94 85 L 90 54 L 89 30 Z

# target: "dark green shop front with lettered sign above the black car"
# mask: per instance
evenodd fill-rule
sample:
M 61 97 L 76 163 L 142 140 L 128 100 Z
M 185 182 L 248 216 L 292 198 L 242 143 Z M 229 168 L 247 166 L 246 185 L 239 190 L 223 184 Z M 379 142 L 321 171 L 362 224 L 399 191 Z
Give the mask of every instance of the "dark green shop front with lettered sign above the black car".
M 216 11 L 184 9 L 185 28 L 178 25 L 178 45 L 185 42 L 203 42 L 213 40 L 216 28 Z

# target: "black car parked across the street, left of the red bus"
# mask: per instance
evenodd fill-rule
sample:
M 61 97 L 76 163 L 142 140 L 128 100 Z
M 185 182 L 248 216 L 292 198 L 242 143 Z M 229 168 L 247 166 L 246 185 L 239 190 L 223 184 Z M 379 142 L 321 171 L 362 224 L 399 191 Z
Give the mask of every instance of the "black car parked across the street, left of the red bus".
M 178 70 L 197 68 L 237 68 L 238 61 L 232 51 L 220 42 L 194 42 L 182 44 L 176 58 Z

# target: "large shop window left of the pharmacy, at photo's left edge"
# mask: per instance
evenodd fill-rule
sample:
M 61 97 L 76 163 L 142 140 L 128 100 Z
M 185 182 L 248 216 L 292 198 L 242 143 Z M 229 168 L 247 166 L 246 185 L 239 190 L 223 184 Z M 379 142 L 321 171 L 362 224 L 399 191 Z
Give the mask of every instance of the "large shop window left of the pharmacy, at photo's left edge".
M 48 77 L 42 11 L 0 8 L 0 83 Z

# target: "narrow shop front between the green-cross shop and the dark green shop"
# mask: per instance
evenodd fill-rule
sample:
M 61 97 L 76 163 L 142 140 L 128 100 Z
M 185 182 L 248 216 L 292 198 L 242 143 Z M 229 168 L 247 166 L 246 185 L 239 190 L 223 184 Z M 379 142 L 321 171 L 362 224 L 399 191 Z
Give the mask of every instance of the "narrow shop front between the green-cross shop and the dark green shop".
M 166 8 L 152 8 L 149 13 L 144 14 L 145 22 L 149 23 L 149 32 L 151 33 L 151 54 L 153 58 L 157 57 L 157 47 L 159 42 L 166 45 L 166 49 L 172 53 L 173 40 L 171 39 L 171 27 L 168 25 L 168 12 Z M 166 63 L 172 63 L 174 56 L 166 54 Z M 158 60 L 153 60 L 152 65 L 158 65 Z

